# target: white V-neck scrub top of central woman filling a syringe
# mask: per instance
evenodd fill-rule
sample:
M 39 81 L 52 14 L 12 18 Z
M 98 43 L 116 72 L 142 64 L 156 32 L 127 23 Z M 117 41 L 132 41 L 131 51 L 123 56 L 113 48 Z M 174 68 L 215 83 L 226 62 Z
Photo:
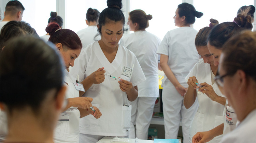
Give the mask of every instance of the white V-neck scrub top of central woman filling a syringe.
M 121 75 L 123 66 L 133 67 L 132 77 Z M 70 73 L 73 76 L 79 74 L 79 81 L 83 81 L 98 68 L 104 67 L 106 73 L 132 82 L 133 86 L 145 81 L 146 78 L 136 56 L 122 45 L 119 45 L 116 57 L 112 63 L 108 61 L 102 52 L 98 42 L 82 49 L 75 60 Z M 80 133 L 98 136 L 128 136 L 131 119 L 131 106 L 126 92 L 121 91 L 117 80 L 105 76 L 100 84 L 93 84 L 83 96 L 93 98 L 93 106 L 99 108 L 102 116 L 99 119 L 93 116 L 85 116 L 80 120 Z

